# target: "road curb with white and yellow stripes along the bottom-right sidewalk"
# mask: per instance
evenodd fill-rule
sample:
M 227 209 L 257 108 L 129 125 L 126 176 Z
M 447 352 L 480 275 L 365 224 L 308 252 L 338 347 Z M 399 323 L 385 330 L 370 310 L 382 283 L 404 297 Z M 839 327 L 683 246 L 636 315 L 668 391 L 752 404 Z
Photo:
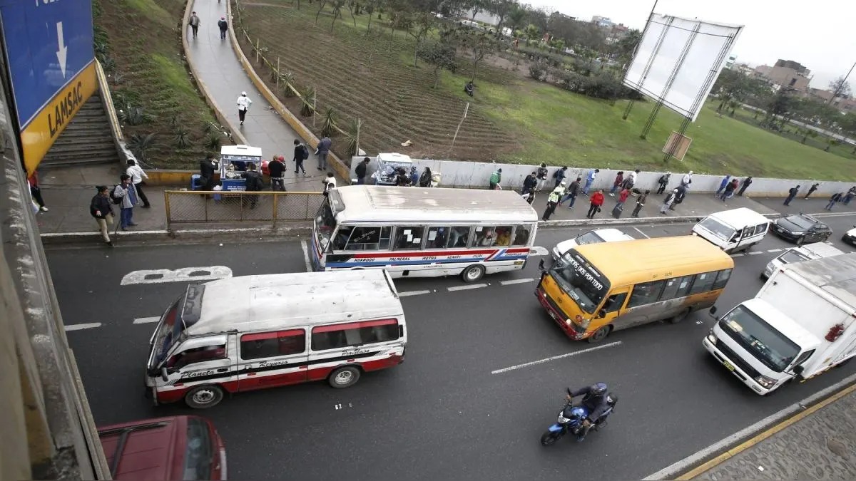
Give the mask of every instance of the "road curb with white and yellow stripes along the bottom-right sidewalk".
M 643 479 L 645 481 L 690 479 L 710 471 L 734 454 L 751 448 L 754 444 L 776 434 L 778 431 L 782 431 L 788 425 L 794 424 L 854 390 L 856 390 L 856 374 L 846 377 L 826 389 L 821 389 L 814 395 L 785 407 L 781 411 L 761 419 L 758 423 L 725 437 L 719 442 L 698 451 L 698 453 L 679 460 Z

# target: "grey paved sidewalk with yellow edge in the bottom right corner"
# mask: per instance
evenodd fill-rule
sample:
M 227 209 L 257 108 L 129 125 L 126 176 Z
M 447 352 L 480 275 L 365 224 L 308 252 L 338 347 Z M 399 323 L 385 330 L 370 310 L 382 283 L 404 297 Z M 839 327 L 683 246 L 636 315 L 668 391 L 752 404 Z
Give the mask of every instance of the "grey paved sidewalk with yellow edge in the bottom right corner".
M 856 386 L 677 479 L 856 479 Z

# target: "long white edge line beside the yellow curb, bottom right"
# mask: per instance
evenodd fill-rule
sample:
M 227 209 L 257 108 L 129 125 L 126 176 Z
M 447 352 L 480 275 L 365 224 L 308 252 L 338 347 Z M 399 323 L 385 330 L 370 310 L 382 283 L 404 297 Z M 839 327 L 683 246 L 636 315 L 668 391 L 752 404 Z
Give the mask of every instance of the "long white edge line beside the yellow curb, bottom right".
M 794 416 L 794 414 L 804 411 L 806 408 L 811 407 L 811 405 L 816 404 L 818 401 L 821 401 L 829 397 L 830 395 L 835 394 L 841 389 L 847 388 L 847 386 L 849 386 L 853 382 L 856 382 L 856 374 L 842 379 L 838 383 L 829 386 L 829 388 L 821 389 L 817 391 L 817 393 L 808 396 L 802 401 L 796 402 L 788 407 L 785 407 L 777 413 L 770 414 L 770 416 L 761 419 L 754 425 L 737 431 L 731 436 L 725 437 L 719 442 L 711 444 L 707 448 L 698 451 L 698 453 L 692 454 L 671 466 L 666 466 L 660 471 L 650 474 L 643 479 L 674 479 L 678 475 L 680 475 L 681 472 L 686 471 L 687 468 L 689 468 L 690 466 L 695 466 L 702 460 L 709 459 L 712 454 L 720 453 L 726 448 L 733 448 L 734 445 L 736 445 L 738 442 L 743 442 L 748 437 L 755 436 L 761 431 L 770 429 L 770 426 L 775 425 L 777 423 L 781 423 L 784 419 L 788 419 L 791 416 Z

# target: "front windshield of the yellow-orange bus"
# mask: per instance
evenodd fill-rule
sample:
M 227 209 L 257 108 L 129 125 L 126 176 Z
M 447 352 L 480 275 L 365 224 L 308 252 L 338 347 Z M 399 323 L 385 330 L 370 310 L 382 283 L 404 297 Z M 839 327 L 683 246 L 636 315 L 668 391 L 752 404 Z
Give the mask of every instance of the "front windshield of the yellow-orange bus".
M 600 306 L 603 297 L 609 292 L 606 278 L 573 249 L 566 252 L 550 269 L 550 276 L 582 311 L 589 314 Z

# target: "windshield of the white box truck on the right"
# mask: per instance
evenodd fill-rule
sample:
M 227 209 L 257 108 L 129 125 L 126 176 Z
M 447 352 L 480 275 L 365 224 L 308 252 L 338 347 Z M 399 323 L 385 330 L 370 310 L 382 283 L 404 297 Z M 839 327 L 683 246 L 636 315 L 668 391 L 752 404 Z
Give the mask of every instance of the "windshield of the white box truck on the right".
M 744 306 L 737 306 L 719 321 L 728 336 L 756 359 L 776 372 L 782 372 L 796 359 L 800 347 Z

